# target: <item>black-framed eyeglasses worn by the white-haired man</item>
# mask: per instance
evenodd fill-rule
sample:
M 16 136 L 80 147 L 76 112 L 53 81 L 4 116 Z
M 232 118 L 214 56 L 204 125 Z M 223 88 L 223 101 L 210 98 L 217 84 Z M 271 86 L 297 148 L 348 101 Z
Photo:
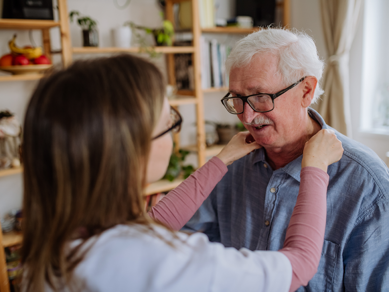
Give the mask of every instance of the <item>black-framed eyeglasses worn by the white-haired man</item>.
M 230 96 L 231 93 L 229 92 L 221 99 L 221 102 L 224 107 L 233 114 L 242 113 L 245 109 L 245 103 L 248 103 L 251 109 L 257 112 L 271 111 L 274 110 L 274 100 L 277 97 L 289 89 L 292 89 L 304 79 L 305 77 L 301 78 L 296 83 L 293 83 L 291 86 L 282 91 L 278 91 L 277 93 L 255 93 L 248 96 Z

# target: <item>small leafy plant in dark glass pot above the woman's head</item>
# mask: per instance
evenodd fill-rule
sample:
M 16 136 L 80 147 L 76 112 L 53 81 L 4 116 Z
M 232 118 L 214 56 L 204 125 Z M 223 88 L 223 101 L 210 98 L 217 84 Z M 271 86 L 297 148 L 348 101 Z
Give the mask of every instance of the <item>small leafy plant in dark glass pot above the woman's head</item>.
M 82 28 L 82 35 L 84 39 L 84 47 L 98 47 L 99 46 L 99 32 L 97 30 L 97 21 L 86 15 L 81 15 L 77 10 L 72 10 L 69 13 L 70 21 L 77 16 L 77 23 Z

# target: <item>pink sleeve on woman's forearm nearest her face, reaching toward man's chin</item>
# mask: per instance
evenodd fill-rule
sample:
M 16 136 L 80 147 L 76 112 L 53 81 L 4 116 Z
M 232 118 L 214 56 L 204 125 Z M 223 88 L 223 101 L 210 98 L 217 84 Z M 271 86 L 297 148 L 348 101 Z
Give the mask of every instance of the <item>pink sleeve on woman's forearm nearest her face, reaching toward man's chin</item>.
M 173 230 L 181 229 L 227 173 L 227 166 L 212 157 L 189 178 L 162 198 L 148 215 Z

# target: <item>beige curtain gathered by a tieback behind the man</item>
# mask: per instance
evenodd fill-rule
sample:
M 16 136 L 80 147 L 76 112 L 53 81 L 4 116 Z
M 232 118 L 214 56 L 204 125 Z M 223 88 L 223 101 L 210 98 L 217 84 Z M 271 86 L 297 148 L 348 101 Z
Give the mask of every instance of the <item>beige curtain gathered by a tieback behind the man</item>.
M 351 131 L 349 59 L 362 0 L 320 0 L 329 58 L 318 111 L 325 122 L 349 137 Z

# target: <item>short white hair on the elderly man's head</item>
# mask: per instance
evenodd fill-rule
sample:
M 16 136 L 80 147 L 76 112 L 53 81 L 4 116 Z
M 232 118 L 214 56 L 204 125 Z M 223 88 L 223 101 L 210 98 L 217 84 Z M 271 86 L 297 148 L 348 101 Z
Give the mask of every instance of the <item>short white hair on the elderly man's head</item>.
M 304 76 L 315 76 L 318 86 L 312 103 L 316 103 L 323 90 L 320 79 L 324 62 L 320 60 L 314 40 L 304 32 L 282 28 L 262 28 L 236 43 L 226 61 L 226 70 L 247 66 L 256 54 L 273 54 L 278 58 L 278 73 L 285 86 Z

